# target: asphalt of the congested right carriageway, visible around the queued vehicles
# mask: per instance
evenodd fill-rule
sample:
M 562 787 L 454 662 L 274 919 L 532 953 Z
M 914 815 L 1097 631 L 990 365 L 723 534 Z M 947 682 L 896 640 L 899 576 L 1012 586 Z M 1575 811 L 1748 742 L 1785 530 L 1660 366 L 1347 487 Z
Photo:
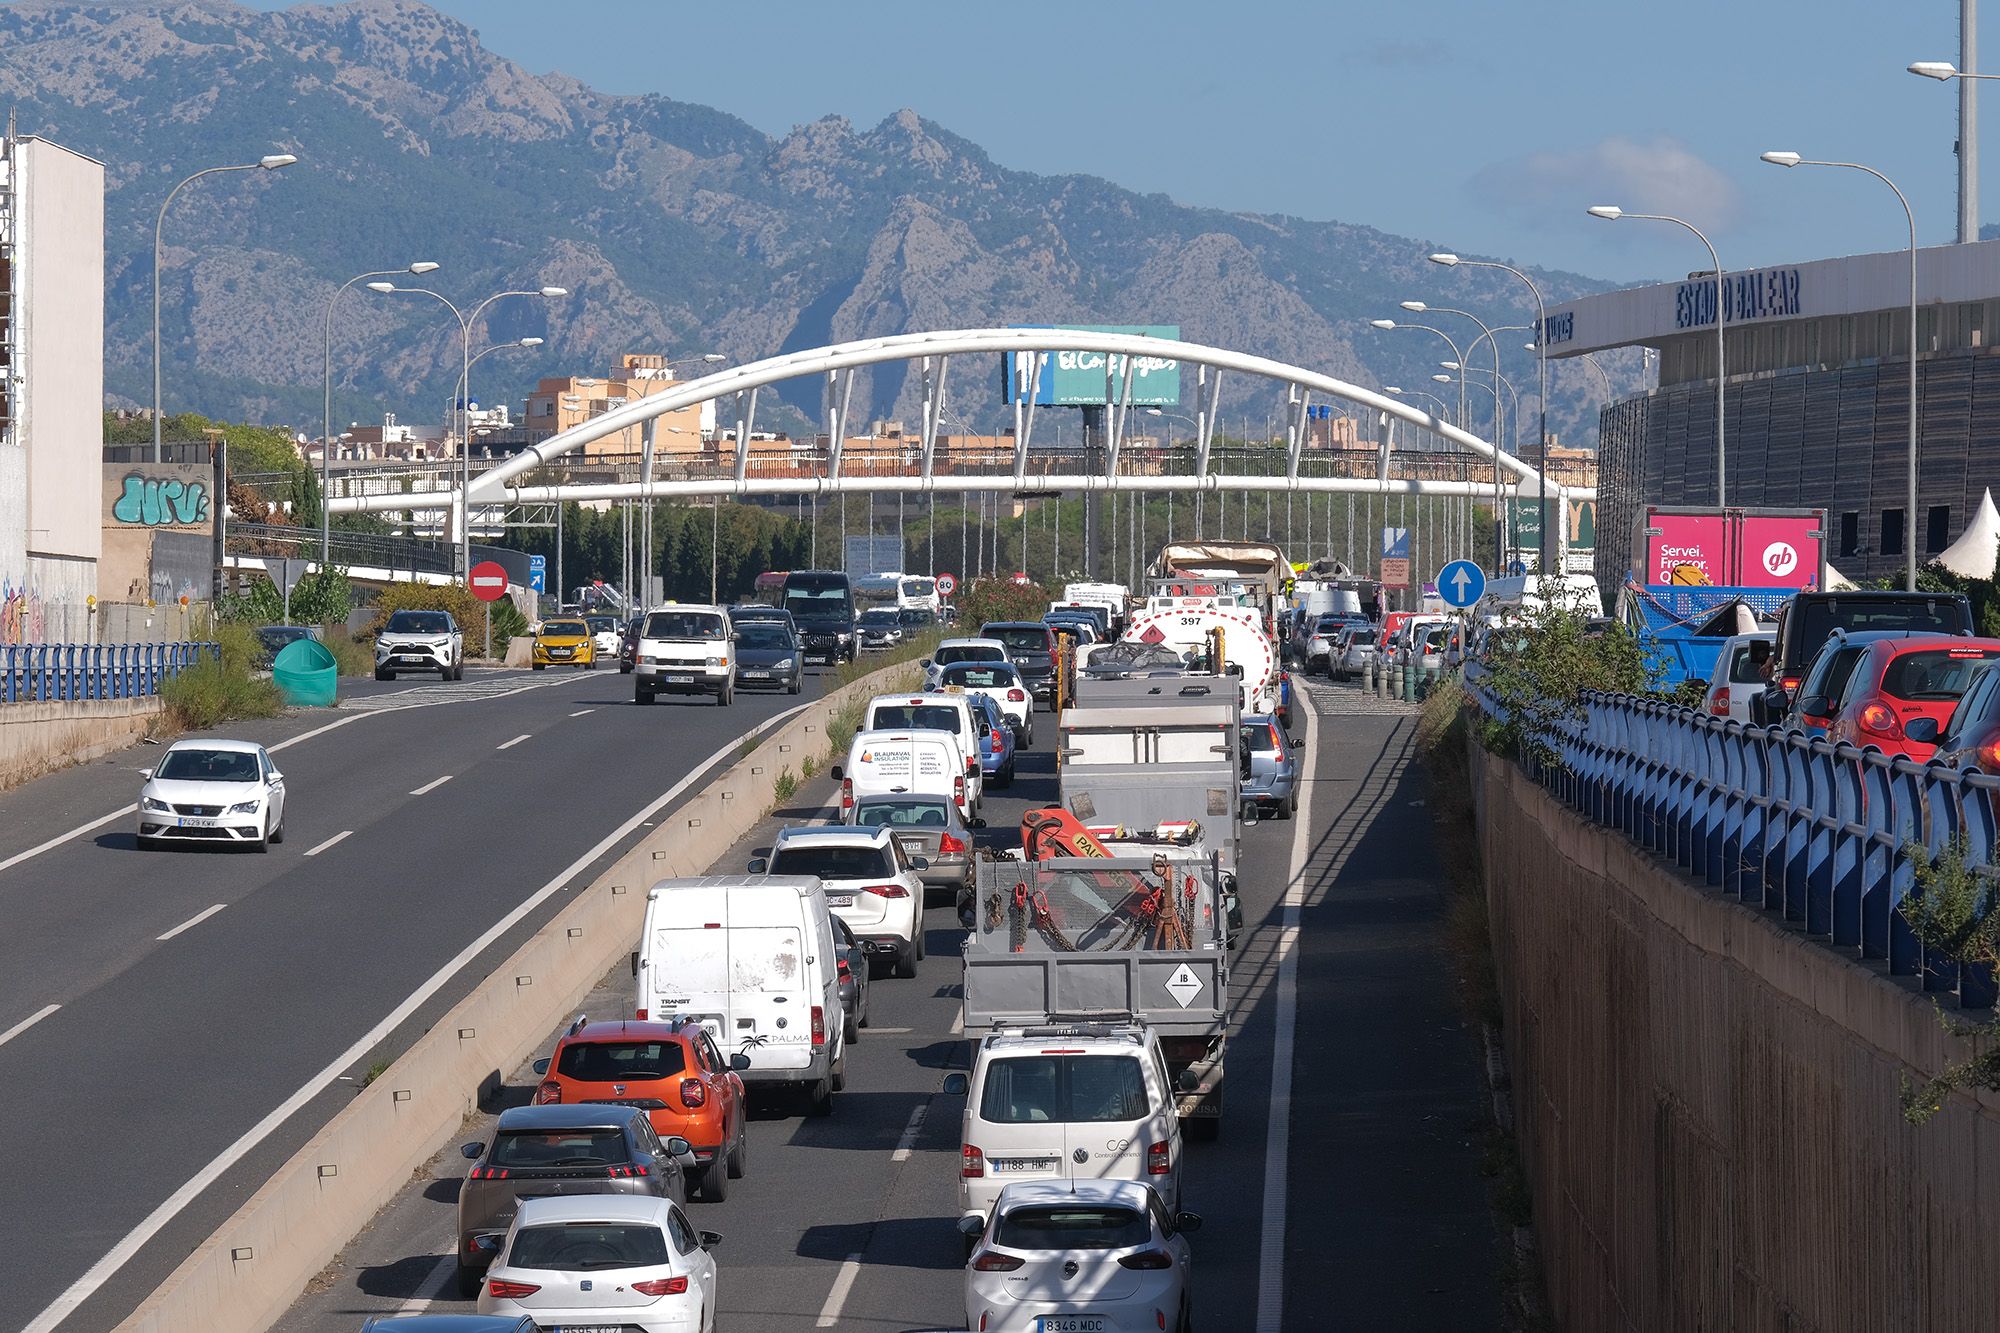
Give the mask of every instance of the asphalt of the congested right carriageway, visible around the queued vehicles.
M 1204 1217 L 1196 1327 L 1492 1329 L 1500 1289 L 1480 1175 L 1480 1047 L 1440 943 L 1414 715 L 1350 687 L 1308 689 L 1320 713 L 1302 723 L 1306 819 L 1248 831 L 1230 1097 L 1220 1141 L 1190 1145 L 1188 1207 Z M 988 791 L 984 843 L 1018 845 L 1020 813 L 1054 799 L 1050 721 L 1040 719 L 1016 785 Z M 830 783 L 806 785 L 716 869 L 742 869 L 784 823 L 824 815 L 830 797 Z M 700 1227 L 726 1237 L 718 1315 L 734 1333 L 962 1327 L 952 1223 L 964 1103 L 940 1093 L 944 1071 L 964 1069 L 970 1051 L 958 1027 L 960 931 L 944 903 L 926 925 L 918 977 L 872 983 L 872 1027 L 850 1051 L 834 1115 L 756 1111 L 746 1177 L 726 1203 L 692 1205 Z M 624 1013 L 630 987 L 616 969 L 586 1013 Z M 1280 1029 L 1292 1057 L 1274 1087 Z M 488 1111 L 524 1103 L 534 1083 L 526 1067 L 512 1071 Z M 1276 1125 L 1272 1105 L 1290 1111 Z M 448 1147 L 280 1333 L 470 1309 L 450 1285 L 462 1175 Z

